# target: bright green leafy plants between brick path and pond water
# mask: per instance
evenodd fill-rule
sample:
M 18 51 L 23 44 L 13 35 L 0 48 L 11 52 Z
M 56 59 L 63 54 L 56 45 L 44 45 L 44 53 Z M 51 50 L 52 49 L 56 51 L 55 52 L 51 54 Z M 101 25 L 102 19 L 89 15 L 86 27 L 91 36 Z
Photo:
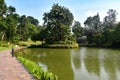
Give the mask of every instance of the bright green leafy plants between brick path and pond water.
M 23 57 L 18 57 L 18 59 L 38 80 L 57 80 L 57 76 L 55 74 L 42 70 L 42 68 L 36 63 Z

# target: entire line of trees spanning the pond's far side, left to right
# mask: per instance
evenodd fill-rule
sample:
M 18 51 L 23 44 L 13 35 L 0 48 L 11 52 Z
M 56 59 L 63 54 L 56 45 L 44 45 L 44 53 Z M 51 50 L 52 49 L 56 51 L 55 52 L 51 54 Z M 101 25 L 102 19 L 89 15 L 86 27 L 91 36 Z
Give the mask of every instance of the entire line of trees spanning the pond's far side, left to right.
M 53 4 L 49 12 L 43 14 L 43 25 L 32 16 L 17 14 L 13 6 L 7 6 L 0 0 L 0 40 L 1 41 L 45 41 L 47 44 L 72 43 L 86 36 L 88 45 L 120 46 L 120 22 L 116 22 L 117 12 L 110 9 L 103 22 L 99 13 L 90 16 L 82 27 L 74 21 L 70 10 L 59 4 Z M 73 24 L 73 25 L 72 25 Z

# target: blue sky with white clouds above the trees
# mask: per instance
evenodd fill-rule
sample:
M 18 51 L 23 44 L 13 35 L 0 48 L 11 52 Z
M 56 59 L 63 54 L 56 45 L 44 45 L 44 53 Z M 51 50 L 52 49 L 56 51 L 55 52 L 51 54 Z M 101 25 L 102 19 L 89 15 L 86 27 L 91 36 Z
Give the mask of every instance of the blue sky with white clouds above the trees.
M 8 6 L 14 6 L 20 15 L 33 16 L 43 24 L 43 14 L 49 12 L 53 4 L 58 3 L 68 8 L 73 13 L 74 20 L 82 26 L 89 16 L 97 13 L 100 20 L 107 15 L 109 9 L 117 11 L 117 21 L 120 21 L 120 0 L 5 0 Z

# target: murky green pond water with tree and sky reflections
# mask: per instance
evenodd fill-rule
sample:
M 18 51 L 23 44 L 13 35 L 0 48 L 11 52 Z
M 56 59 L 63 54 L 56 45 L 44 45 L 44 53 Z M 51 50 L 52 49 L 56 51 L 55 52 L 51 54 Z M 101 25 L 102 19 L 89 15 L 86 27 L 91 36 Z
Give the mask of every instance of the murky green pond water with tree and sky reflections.
M 26 49 L 18 52 L 58 76 L 58 80 L 120 80 L 120 50 Z

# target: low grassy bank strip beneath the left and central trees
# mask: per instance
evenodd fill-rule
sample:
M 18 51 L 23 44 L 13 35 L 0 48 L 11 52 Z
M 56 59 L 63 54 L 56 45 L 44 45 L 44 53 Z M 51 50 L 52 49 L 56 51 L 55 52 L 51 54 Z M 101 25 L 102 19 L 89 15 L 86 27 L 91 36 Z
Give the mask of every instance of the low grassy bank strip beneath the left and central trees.
M 9 42 L 0 42 L 0 50 L 6 50 L 13 47 L 18 46 L 26 46 L 30 48 L 78 48 L 78 44 L 76 42 L 56 42 L 53 44 L 46 44 L 41 41 L 19 41 L 18 43 L 9 43 Z

